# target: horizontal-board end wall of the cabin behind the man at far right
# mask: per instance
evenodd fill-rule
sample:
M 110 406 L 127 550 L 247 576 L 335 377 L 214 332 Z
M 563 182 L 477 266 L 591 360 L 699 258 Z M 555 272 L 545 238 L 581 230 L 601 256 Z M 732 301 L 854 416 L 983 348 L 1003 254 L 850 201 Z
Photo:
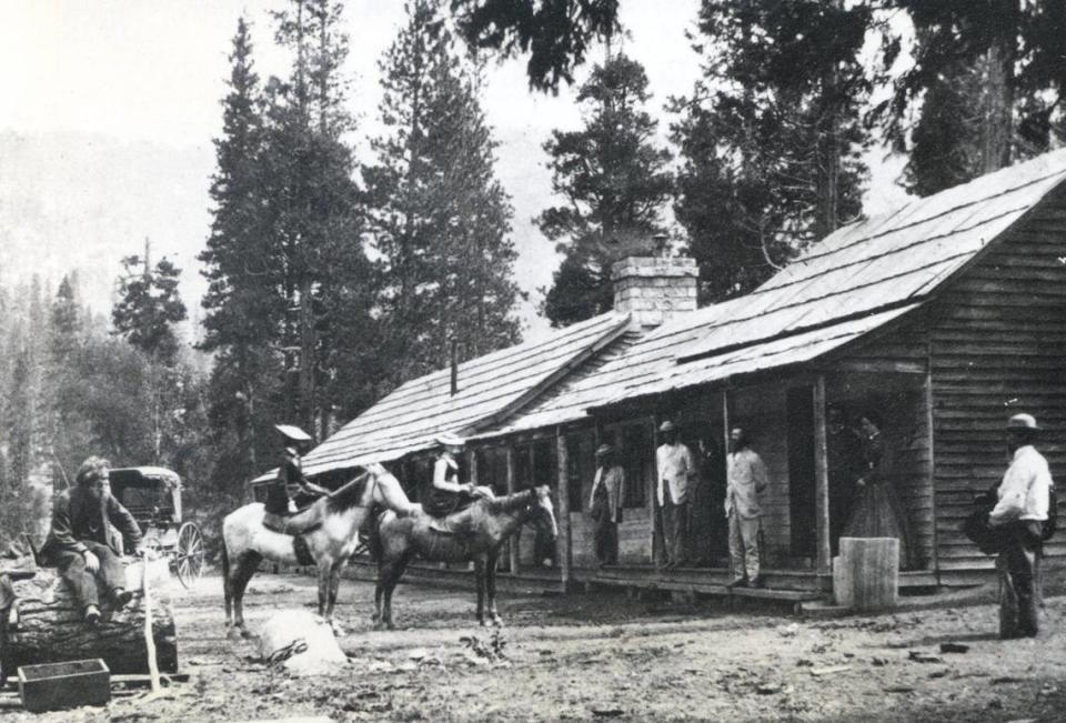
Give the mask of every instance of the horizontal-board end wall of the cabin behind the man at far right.
M 936 300 L 932 328 L 939 569 L 990 569 L 961 532 L 973 496 L 1007 464 L 1003 424 L 1025 411 L 1066 474 L 1066 199 L 1056 190 Z M 1059 488 L 1062 488 L 1059 483 Z M 1066 555 L 1066 535 L 1046 548 Z

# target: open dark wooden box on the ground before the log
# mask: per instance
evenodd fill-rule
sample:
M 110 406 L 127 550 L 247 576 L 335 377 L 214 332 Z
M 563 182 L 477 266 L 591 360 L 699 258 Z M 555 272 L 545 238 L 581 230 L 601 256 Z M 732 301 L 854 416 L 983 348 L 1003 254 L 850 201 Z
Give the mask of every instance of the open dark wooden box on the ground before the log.
M 111 700 L 111 671 L 100 659 L 21 665 L 19 694 L 22 707 L 32 713 L 107 705 Z

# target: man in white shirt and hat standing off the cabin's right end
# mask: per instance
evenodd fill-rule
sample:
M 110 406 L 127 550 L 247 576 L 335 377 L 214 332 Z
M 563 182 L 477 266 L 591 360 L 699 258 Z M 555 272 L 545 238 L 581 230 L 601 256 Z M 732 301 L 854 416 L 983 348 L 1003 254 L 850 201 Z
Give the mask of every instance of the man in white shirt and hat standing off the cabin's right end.
M 1010 466 L 997 490 L 998 502 L 988 522 L 1003 530 L 998 568 L 1003 581 L 999 601 L 1000 637 L 1035 637 L 1039 627 L 1036 568 L 1043 549 L 1043 522 L 1054 484 L 1047 460 L 1033 443 L 1040 432 L 1032 414 L 1007 420 Z

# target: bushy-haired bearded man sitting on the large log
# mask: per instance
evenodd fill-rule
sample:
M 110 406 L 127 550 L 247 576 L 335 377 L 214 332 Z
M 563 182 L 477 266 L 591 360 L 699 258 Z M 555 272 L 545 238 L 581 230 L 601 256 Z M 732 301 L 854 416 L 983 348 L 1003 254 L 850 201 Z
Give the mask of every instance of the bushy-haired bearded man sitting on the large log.
M 100 622 L 100 592 L 112 610 L 133 598 L 125 590 L 125 568 L 120 550 L 108 533 L 108 522 L 131 546 L 141 543 L 141 530 L 133 515 L 111 496 L 111 464 L 90 456 L 78 470 L 78 486 L 62 492 L 52 504 L 52 529 L 41 550 L 46 564 L 59 569 L 82 615 L 90 624 Z

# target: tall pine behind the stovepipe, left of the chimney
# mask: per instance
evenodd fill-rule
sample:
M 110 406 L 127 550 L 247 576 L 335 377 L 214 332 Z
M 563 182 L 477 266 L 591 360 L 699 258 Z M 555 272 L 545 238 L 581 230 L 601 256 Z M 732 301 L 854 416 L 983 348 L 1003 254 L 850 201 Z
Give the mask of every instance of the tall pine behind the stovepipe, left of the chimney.
M 512 210 L 475 71 L 456 57 L 440 2 L 416 0 L 408 18 L 380 63 L 390 133 L 363 172 L 382 258 L 380 339 L 393 360 L 385 386 L 442 366 L 453 343 L 462 360 L 517 337 Z

